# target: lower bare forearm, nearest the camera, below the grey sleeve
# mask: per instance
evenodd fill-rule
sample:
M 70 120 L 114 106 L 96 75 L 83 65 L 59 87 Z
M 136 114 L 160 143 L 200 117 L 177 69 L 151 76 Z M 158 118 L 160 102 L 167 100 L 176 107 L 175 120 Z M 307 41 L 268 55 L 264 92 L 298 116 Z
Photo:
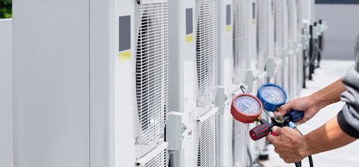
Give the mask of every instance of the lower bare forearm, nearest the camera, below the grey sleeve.
M 298 151 L 303 157 L 319 152 L 326 152 L 347 145 L 357 138 L 346 134 L 338 125 L 337 117 L 328 121 L 325 125 L 315 129 L 298 139 Z

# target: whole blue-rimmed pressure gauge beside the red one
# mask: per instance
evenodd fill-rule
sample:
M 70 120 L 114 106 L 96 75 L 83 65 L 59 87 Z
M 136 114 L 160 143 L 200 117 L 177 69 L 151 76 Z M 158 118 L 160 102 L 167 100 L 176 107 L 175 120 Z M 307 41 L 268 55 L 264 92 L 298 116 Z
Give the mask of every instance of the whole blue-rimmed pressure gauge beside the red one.
M 263 84 L 257 93 L 266 111 L 275 111 L 287 101 L 287 93 L 276 84 Z

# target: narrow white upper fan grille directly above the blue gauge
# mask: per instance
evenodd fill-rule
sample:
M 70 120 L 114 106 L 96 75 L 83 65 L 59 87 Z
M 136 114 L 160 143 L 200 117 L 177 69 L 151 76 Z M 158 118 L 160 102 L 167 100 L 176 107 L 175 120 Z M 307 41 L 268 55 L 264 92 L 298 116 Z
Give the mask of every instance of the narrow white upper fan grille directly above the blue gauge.
M 258 0 L 257 17 L 257 69 L 264 70 L 268 54 L 268 0 Z

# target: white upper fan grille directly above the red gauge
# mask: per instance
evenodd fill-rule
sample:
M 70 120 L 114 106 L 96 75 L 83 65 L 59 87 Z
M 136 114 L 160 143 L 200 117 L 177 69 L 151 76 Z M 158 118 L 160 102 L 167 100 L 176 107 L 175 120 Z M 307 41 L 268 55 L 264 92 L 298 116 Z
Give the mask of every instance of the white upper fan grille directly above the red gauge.
M 245 81 L 245 72 L 250 67 L 250 10 L 248 0 L 236 0 L 234 4 L 233 56 L 234 84 Z

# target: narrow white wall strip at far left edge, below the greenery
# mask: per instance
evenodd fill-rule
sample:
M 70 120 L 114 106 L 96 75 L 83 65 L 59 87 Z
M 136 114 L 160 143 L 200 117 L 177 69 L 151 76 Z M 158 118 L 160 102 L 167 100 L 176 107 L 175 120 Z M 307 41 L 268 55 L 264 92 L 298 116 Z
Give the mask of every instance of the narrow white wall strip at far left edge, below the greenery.
M 13 166 L 12 20 L 0 19 L 0 166 Z

